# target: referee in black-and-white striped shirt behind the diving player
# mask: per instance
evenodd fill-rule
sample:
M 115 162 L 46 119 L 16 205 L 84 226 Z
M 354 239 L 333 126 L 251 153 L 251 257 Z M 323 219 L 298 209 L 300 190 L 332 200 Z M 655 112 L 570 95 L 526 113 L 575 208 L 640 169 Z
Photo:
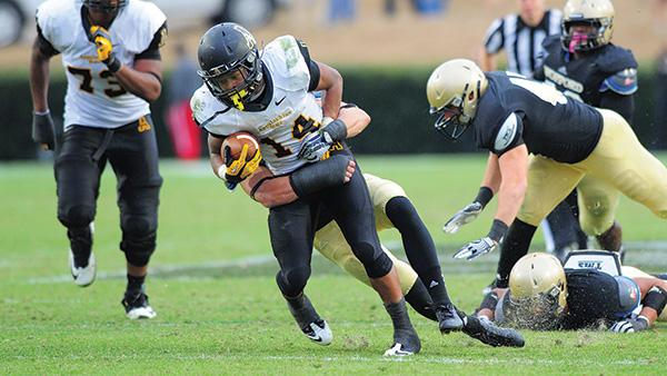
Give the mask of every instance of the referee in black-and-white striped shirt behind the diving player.
M 544 0 L 518 0 L 519 13 L 496 19 L 487 30 L 479 53 L 479 66 L 485 71 L 496 70 L 495 56 L 505 50 L 507 70 L 532 77 L 540 66 L 542 41 L 547 36 L 560 34 L 563 12 L 545 9 Z M 587 236 L 578 220 L 576 192 L 559 204 L 541 222 L 546 250 L 564 254 L 585 248 Z

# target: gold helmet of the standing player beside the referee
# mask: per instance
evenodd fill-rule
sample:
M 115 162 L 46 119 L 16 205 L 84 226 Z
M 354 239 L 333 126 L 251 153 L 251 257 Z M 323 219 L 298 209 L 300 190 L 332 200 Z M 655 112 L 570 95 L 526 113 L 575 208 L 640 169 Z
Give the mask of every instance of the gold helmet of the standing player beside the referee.
M 560 42 L 571 52 L 589 51 L 611 41 L 614 6 L 609 0 L 569 0 L 563 10 Z M 590 27 L 590 32 L 577 32 L 575 26 Z

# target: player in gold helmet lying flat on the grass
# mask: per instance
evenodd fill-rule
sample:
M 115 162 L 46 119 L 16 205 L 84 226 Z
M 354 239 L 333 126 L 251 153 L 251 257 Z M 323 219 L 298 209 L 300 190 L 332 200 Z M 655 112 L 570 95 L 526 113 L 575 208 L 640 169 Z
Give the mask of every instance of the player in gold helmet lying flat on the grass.
M 477 315 L 537 330 L 648 329 L 665 311 L 667 281 L 635 268 L 623 273 L 631 277 L 564 269 L 552 255 L 528 254 L 511 269 L 509 288 L 486 299 Z

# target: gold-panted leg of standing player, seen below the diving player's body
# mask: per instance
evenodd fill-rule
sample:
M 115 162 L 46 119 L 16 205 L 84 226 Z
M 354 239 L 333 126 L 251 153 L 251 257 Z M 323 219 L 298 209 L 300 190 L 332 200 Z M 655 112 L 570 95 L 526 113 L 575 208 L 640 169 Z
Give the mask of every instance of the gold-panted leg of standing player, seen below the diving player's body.
M 618 207 L 618 190 L 607 181 L 590 175 L 581 179 L 577 190 L 579 219 L 586 234 L 595 235 L 603 249 L 620 253 L 623 231 L 620 225 L 614 220 Z

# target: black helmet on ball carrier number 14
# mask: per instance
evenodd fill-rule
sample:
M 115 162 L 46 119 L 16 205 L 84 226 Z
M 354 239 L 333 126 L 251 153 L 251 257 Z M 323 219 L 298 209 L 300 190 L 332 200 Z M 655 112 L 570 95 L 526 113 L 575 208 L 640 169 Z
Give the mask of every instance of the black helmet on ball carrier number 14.
M 240 24 L 223 22 L 210 28 L 197 51 L 199 77 L 211 93 L 227 106 L 239 110 L 261 87 L 262 63 L 252 34 Z M 230 79 L 232 78 L 232 79 Z M 229 80 L 241 82 L 228 87 Z

